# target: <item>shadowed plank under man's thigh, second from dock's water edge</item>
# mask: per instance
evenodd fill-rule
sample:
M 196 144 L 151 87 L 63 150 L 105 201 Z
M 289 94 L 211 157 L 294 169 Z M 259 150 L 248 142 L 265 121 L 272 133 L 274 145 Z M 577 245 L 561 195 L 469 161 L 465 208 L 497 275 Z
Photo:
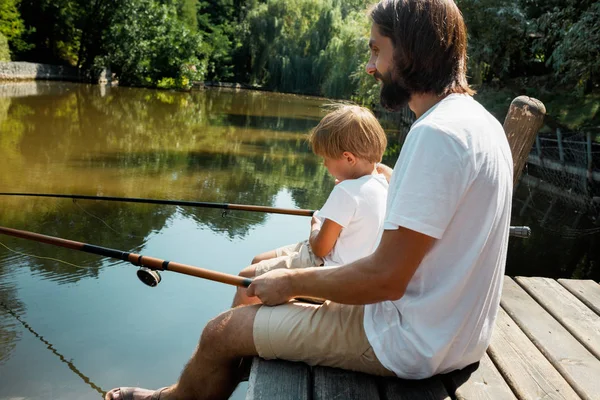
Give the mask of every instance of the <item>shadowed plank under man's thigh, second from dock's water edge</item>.
M 313 399 L 378 400 L 377 378 L 360 372 L 317 366 L 313 368 Z

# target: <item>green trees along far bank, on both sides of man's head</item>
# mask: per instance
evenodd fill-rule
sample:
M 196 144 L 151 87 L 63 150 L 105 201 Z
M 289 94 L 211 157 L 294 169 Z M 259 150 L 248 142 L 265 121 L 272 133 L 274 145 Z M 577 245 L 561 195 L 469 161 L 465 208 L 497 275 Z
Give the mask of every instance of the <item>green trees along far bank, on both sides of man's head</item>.
M 456 0 L 474 83 L 549 76 L 580 93 L 600 82 L 600 2 Z M 373 99 L 362 73 L 370 0 L 1 0 L 15 60 L 108 65 L 122 83 L 236 81 Z

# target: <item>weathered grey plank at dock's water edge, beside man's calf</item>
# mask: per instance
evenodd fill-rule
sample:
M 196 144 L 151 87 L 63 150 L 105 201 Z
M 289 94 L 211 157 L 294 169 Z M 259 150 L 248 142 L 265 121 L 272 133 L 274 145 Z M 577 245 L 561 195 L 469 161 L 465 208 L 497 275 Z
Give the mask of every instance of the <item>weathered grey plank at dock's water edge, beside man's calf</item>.
M 254 357 L 246 400 L 309 400 L 310 367 L 282 360 Z

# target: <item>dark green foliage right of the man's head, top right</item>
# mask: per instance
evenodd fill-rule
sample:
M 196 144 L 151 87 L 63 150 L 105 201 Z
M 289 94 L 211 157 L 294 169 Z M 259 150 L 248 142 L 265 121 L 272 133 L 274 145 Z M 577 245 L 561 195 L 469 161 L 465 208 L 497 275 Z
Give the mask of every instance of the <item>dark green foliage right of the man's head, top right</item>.
M 553 74 L 590 92 L 600 83 L 600 3 L 457 0 L 469 28 L 475 81 Z

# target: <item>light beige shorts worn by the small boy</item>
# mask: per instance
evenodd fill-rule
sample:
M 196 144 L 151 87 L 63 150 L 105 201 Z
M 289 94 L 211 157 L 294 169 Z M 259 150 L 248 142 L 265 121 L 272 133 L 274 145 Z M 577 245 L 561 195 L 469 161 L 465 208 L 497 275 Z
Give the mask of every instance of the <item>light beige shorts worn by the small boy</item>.
M 310 268 L 323 265 L 323 259 L 315 256 L 308 240 L 280 247 L 275 249 L 275 253 L 276 258 L 254 264 L 256 276 L 279 268 Z

